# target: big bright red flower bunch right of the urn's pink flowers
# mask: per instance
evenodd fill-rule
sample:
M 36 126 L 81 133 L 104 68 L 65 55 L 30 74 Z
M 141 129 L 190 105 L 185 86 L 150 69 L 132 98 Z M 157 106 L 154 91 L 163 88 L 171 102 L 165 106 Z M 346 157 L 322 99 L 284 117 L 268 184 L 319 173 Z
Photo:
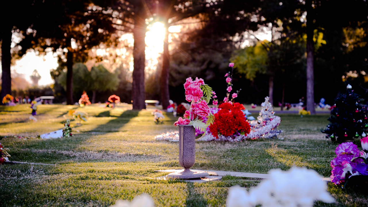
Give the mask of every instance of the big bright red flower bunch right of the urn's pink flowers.
M 225 102 L 219 106 L 219 109 L 215 114 L 215 122 L 209 126 L 212 136 L 219 138 L 220 134 L 232 136 L 250 132 L 250 125 L 241 111 L 245 109 L 243 104 Z

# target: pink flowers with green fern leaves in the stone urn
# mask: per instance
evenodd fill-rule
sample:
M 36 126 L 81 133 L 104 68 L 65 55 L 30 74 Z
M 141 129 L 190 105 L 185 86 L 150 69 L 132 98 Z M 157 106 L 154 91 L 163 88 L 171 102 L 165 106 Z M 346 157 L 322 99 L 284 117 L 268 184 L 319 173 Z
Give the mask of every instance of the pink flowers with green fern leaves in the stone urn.
M 191 124 L 195 129 L 205 131 L 215 121 L 215 116 L 213 116 L 208 107 L 208 103 L 212 97 L 212 88 L 205 84 L 202 78 L 198 79 L 198 77 L 194 81 L 191 77 L 187 78 L 184 88 L 185 99 L 191 102 L 190 109 L 185 110 L 184 119 L 179 117 L 174 123 L 174 126 Z M 182 112 L 184 108 L 185 106 L 181 107 L 181 111 L 179 110 L 179 112 Z M 177 110 L 177 113 L 179 112 Z

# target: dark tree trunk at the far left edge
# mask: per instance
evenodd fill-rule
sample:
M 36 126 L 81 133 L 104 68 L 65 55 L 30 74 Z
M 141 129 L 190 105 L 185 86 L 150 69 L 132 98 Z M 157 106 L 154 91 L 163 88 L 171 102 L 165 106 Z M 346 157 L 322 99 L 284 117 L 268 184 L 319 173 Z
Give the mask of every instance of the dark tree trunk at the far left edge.
M 10 76 L 10 64 L 11 64 L 11 53 L 10 53 L 10 45 L 11 45 L 11 35 L 12 35 L 12 27 L 7 25 L 3 30 L 3 34 L 1 39 L 3 42 L 1 43 L 1 67 L 3 70 L 3 74 L 1 76 L 1 96 L 0 96 L 0 104 L 2 104 L 4 96 L 6 94 L 11 94 L 11 76 Z

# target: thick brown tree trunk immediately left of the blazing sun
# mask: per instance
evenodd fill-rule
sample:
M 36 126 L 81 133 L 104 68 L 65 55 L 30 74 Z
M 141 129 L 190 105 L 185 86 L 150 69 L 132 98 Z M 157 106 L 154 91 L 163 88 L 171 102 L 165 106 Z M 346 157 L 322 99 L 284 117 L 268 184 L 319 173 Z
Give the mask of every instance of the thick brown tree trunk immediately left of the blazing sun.
M 133 109 L 145 109 L 145 89 L 144 89 L 144 68 L 145 68 L 145 36 L 146 36 L 146 12 L 143 3 L 137 8 L 134 20 L 134 49 L 133 49 L 133 83 L 132 83 L 132 101 Z

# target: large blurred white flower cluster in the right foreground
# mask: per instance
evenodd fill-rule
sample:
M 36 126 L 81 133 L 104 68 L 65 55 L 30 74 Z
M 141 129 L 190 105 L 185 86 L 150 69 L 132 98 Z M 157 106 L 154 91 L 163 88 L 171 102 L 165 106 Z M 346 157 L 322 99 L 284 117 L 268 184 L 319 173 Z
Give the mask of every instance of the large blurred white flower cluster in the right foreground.
M 231 187 L 227 207 L 312 207 L 315 200 L 333 203 L 327 185 L 314 170 L 293 167 L 289 171 L 273 169 L 270 179 L 262 181 L 248 193 L 245 188 Z

